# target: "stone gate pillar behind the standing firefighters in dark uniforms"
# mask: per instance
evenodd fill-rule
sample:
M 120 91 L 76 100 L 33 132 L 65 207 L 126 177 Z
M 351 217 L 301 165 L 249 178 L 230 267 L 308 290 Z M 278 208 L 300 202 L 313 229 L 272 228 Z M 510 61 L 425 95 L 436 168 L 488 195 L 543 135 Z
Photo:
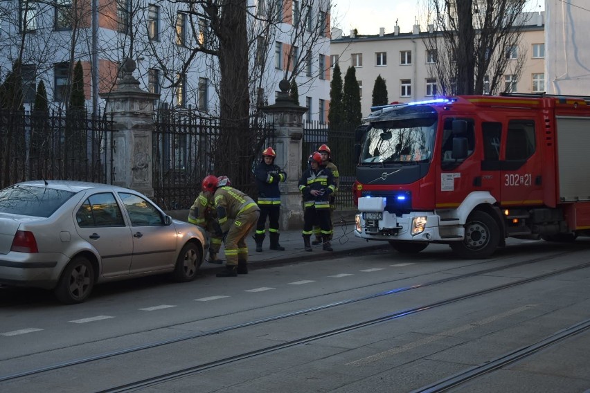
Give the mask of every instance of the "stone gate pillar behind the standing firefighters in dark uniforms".
M 297 183 L 301 178 L 301 149 L 303 138 L 303 113 L 307 108 L 300 107 L 289 96 L 291 85 L 287 80 L 278 84 L 280 93 L 273 105 L 263 107 L 269 122 L 276 130 L 275 164 L 287 172 L 285 183 L 280 188 L 280 229 L 303 228 L 303 208 L 301 192 Z

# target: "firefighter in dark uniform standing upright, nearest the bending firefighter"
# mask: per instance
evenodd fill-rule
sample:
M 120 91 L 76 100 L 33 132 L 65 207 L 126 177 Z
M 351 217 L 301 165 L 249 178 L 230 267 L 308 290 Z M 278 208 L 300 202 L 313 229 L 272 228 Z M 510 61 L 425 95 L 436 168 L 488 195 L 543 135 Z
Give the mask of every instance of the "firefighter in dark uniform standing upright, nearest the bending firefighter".
M 280 214 L 280 190 L 278 183 L 287 179 L 287 173 L 274 165 L 276 152 L 272 147 L 267 147 L 262 152 L 262 161 L 256 167 L 256 185 L 258 186 L 258 207 L 260 218 L 256 224 L 256 251 L 262 251 L 262 241 L 265 240 L 265 225 L 269 218 L 270 249 L 284 251 L 285 248 L 278 244 L 278 216 Z

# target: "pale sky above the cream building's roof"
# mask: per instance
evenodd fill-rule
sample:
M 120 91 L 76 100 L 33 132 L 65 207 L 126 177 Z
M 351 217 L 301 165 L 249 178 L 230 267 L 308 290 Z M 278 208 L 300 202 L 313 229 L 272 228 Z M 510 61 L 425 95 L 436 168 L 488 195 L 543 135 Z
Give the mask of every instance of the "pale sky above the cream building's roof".
M 410 33 L 422 1 L 332 0 L 332 27 L 341 28 L 344 35 L 354 28 L 359 34 L 377 35 L 380 27 L 385 28 L 385 33 L 393 33 L 397 21 L 400 33 Z M 527 9 L 544 10 L 544 4 L 544 0 L 528 0 Z

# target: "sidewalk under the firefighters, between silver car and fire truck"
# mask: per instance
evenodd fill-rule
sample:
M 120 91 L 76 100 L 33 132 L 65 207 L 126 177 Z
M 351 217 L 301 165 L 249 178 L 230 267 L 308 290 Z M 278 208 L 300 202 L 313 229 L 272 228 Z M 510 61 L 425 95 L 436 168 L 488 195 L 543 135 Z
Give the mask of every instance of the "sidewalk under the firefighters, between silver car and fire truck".
M 359 253 L 364 250 L 373 250 L 375 248 L 389 247 L 386 241 L 366 241 L 355 236 L 355 219 L 354 214 L 344 214 L 343 212 L 334 212 L 334 238 L 331 241 L 334 251 L 322 250 L 321 244 L 312 246 L 313 251 L 303 249 L 303 237 L 301 229 L 281 230 L 279 243 L 285 247 L 285 251 L 269 250 L 270 241 L 267 233 L 265 241 L 262 243 L 262 253 L 256 252 L 256 243 L 253 236 L 247 239 L 248 245 L 248 263 L 251 268 L 256 266 L 269 266 L 272 264 L 285 264 L 301 261 L 305 259 L 319 260 L 343 257 L 353 253 Z M 313 239 L 313 237 L 312 237 Z M 220 259 L 225 261 L 224 246 L 220 250 Z M 208 255 L 200 267 L 201 271 L 223 268 L 223 264 L 210 264 Z M 211 273 L 211 272 L 210 272 Z

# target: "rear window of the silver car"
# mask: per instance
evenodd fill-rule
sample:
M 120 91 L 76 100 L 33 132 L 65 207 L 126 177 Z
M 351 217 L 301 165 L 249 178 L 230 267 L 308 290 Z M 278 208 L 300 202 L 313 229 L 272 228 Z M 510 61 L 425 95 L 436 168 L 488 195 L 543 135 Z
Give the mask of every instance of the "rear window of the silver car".
M 13 185 L 0 191 L 0 212 L 49 217 L 75 192 L 53 188 Z

